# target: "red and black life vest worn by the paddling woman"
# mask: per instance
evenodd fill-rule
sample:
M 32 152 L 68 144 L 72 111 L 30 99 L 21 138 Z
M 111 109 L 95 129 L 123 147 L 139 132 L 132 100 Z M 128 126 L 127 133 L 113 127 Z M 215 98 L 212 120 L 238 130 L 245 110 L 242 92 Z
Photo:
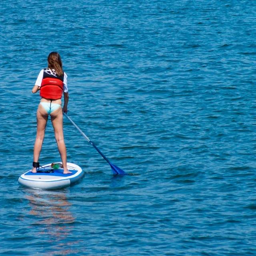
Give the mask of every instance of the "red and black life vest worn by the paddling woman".
M 58 76 L 54 70 L 45 68 L 40 88 L 40 96 L 49 100 L 61 99 L 64 88 L 63 80 L 64 76 Z

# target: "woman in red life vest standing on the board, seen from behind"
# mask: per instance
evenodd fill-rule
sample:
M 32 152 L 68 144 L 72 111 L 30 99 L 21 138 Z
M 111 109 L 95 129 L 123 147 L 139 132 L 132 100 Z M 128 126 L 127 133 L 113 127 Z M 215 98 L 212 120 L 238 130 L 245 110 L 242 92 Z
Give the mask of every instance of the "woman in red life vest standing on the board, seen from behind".
M 51 52 L 48 56 L 48 68 L 40 71 L 33 93 L 40 90 L 40 104 L 36 113 L 37 132 L 34 146 L 34 162 L 32 172 L 39 168 L 39 156 L 44 141 L 44 133 L 50 115 L 54 134 L 63 164 L 63 174 L 71 173 L 67 168 L 67 152 L 63 135 L 63 114 L 68 112 L 68 83 L 67 75 L 62 70 L 62 61 L 58 52 Z M 64 106 L 61 108 L 61 97 L 64 91 Z

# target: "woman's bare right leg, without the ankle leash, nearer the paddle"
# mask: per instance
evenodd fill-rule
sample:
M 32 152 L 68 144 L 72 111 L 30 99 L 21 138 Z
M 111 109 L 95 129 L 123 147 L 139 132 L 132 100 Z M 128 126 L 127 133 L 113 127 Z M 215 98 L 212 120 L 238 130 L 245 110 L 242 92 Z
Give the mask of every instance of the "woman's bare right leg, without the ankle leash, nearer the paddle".
M 64 143 L 64 135 L 63 135 L 63 114 L 62 114 L 62 108 L 58 108 L 54 110 L 50 114 L 51 120 L 52 120 L 52 125 L 54 128 L 54 134 L 56 138 L 56 142 L 58 145 L 58 150 L 60 152 L 60 158 L 62 160 L 63 164 L 63 173 L 68 174 L 71 173 L 68 168 L 67 168 L 67 152 L 66 152 L 66 146 Z

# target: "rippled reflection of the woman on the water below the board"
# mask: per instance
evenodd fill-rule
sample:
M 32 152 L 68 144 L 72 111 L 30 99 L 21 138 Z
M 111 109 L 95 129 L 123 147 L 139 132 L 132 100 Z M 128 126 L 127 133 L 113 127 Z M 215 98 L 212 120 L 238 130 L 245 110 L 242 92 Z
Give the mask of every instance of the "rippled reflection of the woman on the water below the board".
M 42 237 L 44 242 L 49 242 L 47 255 L 69 255 L 78 252 L 72 249 L 72 245 L 78 243 L 64 242 L 74 229 L 72 225 L 75 218 L 70 211 L 71 203 L 67 200 L 64 192 L 46 191 L 46 190 L 29 190 L 26 191 L 26 198 L 29 200 L 31 210 L 28 214 L 34 216 L 34 223 L 38 229 L 38 237 Z

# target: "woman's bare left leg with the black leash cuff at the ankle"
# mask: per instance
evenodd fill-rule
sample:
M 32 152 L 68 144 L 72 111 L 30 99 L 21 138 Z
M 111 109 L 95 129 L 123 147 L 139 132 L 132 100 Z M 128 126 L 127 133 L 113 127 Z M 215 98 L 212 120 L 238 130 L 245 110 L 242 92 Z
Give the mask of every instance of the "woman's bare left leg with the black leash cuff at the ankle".
M 37 131 L 36 131 L 36 142 L 34 145 L 34 162 L 38 162 L 40 152 L 42 149 L 42 144 L 44 141 L 44 133 L 48 120 L 48 113 L 43 108 L 41 104 L 39 104 L 37 112 L 36 112 L 36 120 L 37 120 Z M 36 167 L 33 167 L 32 172 L 36 172 Z

